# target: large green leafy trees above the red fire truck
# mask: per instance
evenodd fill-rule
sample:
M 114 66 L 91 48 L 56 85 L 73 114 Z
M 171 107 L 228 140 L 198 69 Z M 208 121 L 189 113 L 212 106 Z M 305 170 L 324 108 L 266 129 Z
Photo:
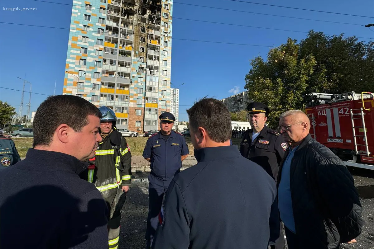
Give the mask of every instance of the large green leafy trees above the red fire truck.
M 269 126 L 278 126 L 279 115 L 302 109 L 306 94 L 345 93 L 374 90 L 374 42 L 358 42 L 356 37 L 327 36 L 309 32 L 297 43 L 269 51 L 267 60 L 256 57 L 245 77 L 249 99 L 269 106 Z

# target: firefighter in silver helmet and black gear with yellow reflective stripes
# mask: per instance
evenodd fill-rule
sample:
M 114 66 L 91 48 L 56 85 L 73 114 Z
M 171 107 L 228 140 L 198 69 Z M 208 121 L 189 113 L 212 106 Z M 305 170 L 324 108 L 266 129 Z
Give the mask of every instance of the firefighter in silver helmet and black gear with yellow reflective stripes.
M 107 202 L 109 248 L 119 246 L 121 209 L 126 199 L 126 192 L 131 185 L 131 152 L 126 139 L 116 129 L 117 117 L 106 106 L 99 108 L 100 120 L 99 143 L 95 156 L 89 159 L 91 164 L 81 177 L 95 184 Z

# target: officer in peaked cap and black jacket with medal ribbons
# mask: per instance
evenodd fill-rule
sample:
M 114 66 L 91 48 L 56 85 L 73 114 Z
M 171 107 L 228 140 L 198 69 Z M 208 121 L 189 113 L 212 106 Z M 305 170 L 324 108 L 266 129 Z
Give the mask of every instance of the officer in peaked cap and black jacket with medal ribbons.
M 240 154 L 245 158 L 262 166 L 266 172 L 276 181 L 278 169 L 288 144 L 276 131 L 265 125 L 269 108 L 260 102 L 252 102 L 247 106 L 249 112 L 249 122 L 252 129 L 246 130 L 240 143 Z M 282 232 L 276 240 L 272 249 L 283 249 L 285 247 Z

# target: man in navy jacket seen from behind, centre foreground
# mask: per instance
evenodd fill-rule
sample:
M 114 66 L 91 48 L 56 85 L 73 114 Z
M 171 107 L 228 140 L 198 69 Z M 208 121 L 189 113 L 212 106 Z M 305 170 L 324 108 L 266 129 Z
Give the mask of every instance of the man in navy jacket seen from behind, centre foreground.
M 153 248 L 267 248 L 279 236 L 275 181 L 230 146 L 222 102 L 202 99 L 187 113 L 198 163 L 171 181 Z

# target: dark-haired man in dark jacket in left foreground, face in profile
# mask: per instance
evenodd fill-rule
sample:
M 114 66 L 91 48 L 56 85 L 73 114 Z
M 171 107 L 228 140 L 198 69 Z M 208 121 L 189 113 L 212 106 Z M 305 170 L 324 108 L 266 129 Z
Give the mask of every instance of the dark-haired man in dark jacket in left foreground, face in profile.
M 108 248 L 107 206 L 79 178 L 102 140 L 101 113 L 72 95 L 36 111 L 26 159 L 1 170 L 0 248 Z

